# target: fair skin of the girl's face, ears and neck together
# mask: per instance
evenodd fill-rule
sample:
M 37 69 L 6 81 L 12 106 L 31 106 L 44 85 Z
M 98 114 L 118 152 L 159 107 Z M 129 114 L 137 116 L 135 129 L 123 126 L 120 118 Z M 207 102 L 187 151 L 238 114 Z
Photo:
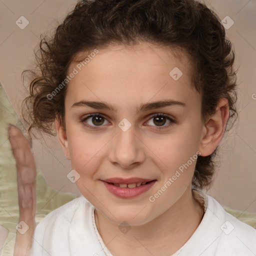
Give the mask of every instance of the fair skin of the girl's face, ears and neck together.
M 70 64 L 68 73 L 76 64 Z M 203 216 L 191 193 L 195 161 L 155 201 L 148 199 L 197 151 L 202 156 L 212 153 L 224 133 L 227 100 L 221 98 L 215 113 L 203 122 L 189 64 L 184 52 L 148 43 L 109 46 L 68 83 L 66 127 L 56 118 L 55 128 L 66 158 L 80 175 L 76 185 L 95 206 L 97 229 L 113 255 L 130 255 L 131 248 L 135 255 L 171 255 Z M 169 75 L 173 67 L 183 73 L 178 80 Z M 181 103 L 137 111 L 143 103 L 169 99 Z M 105 102 L 115 111 L 78 105 L 79 101 Z M 91 113 L 104 117 L 100 125 L 92 117 L 84 119 Z M 156 113 L 163 124 L 152 117 Z M 126 131 L 118 126 L 123 118 L 131 124 Z M 103 184 L 112 177 L 156 181 L 138 196 L 121 198 Z M 126 233 L 118 228 L 123 221 L 130 227 Z

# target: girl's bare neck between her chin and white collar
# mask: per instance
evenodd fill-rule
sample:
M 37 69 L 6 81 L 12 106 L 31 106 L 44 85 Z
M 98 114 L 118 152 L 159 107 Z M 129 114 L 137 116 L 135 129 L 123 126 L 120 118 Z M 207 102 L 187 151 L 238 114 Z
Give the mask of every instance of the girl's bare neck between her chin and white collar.
M 203 208 L 186 189 L 164 213 L 141 226 L 121 233 L 118 225 L 95 209 L 99 234 L 112 255 L 171 255 L 193 234 L 203 216 Z M 111 242 L 110 242 L 111 241 Z

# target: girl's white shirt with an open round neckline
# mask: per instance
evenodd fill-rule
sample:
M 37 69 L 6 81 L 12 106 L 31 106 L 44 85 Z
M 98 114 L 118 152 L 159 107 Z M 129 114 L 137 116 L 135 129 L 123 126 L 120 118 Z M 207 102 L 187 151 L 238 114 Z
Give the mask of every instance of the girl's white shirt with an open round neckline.
M 255 256 L 256 229 L 241 222 L 211 196 L 188 241 L 171 256 Z M 82 195 L 47 214 L 36 226 L 32 256 L 112 256 L 96 228 L 95 207 Z M 158 256 L 158 255 L 155 255 Z

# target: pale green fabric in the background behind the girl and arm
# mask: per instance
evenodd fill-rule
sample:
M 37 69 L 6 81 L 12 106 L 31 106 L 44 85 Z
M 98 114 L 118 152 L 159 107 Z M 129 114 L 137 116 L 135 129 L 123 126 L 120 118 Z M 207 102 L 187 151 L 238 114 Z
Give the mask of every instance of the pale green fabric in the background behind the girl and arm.
M 0 85 L 0 225 L 9 230 L 1 255 L 13 255 L 18 223 L 17 180 L 15 160 L 11 153 L 7 135 L 7 124 L 13 123 L 21 130 L 23 127 Z M 61 193 L 49 187 L 38 168 L 36 168 L 36 224 L 49 212 L 74 199 L 72 193 Z M 256 216 L 251 213 L 226 209 L 241 221 L 256 228 Z

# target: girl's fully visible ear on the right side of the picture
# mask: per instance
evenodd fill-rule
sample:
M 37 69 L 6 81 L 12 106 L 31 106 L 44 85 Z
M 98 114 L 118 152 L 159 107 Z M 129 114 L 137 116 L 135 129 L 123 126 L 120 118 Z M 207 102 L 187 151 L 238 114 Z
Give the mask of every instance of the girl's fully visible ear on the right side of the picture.
M 226 98 L 220 98 L 215 112 L 208 117 L 203 126 L 199 151 L 201 156 L 210 155 L 221 141 L 229 117 Z

